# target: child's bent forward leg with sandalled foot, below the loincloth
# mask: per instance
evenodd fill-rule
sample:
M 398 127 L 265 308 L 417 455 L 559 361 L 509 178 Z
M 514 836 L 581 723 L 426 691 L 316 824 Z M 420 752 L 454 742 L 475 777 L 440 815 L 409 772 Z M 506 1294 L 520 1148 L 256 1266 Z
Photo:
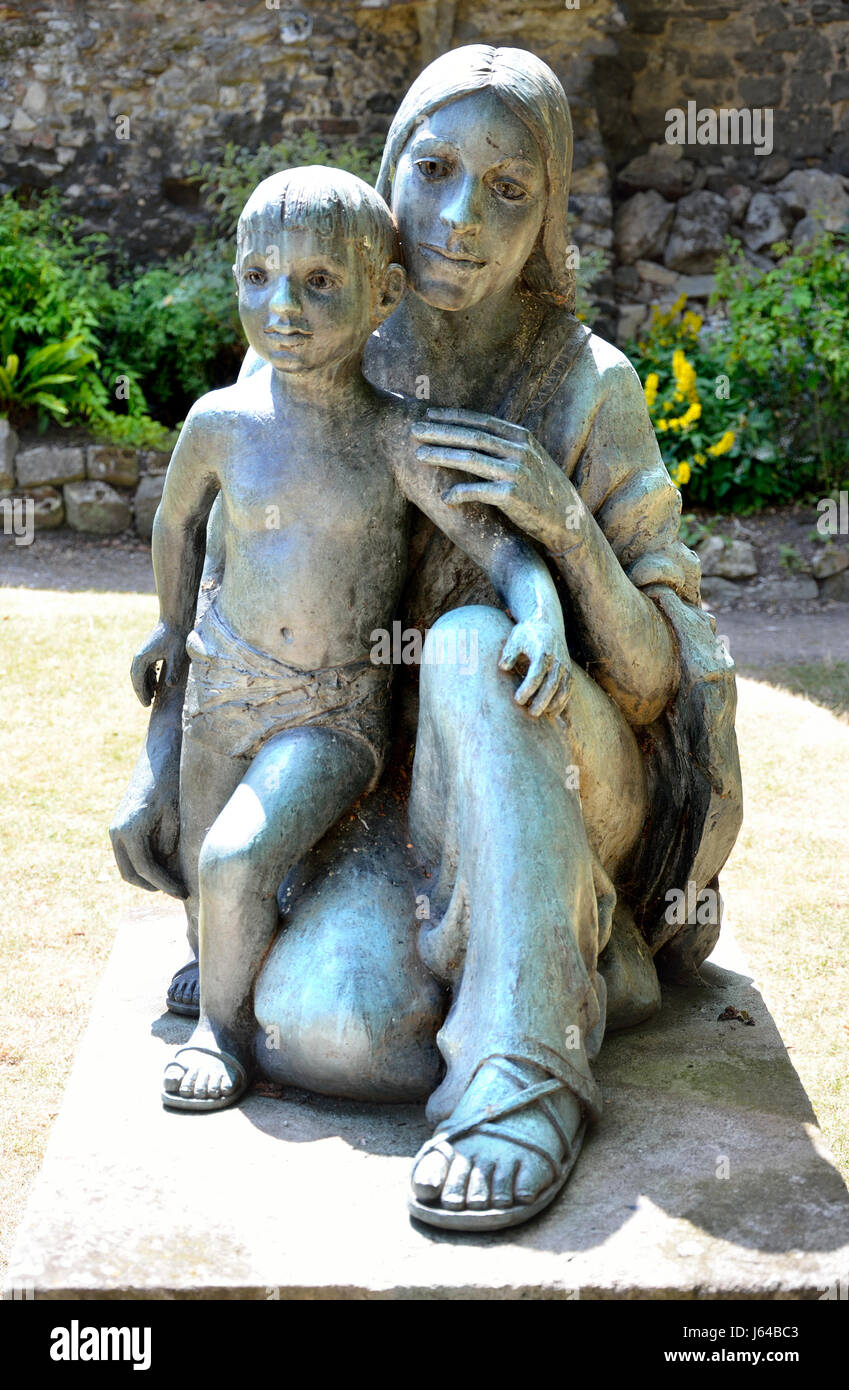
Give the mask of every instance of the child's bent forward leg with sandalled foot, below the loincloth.
M 327 728 L 286 730 L 254 758 L 200 851 L 200 1019 L 189 1049 L 228 1052 L 250 1072 L 253 986 L 278 926 L 277 890 L 372 773 L 364 744 Z M 222 1098 L 235 1080 L 203 1051 L 181 1049 L 165 1069 L 165 1090 L 183 1098 Z

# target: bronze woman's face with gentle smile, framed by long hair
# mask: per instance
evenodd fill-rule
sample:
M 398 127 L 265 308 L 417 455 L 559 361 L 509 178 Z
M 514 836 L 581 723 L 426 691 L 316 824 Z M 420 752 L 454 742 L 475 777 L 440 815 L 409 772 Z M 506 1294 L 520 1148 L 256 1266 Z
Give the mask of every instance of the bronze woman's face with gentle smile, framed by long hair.
M 428 115 L 392 188 L 410 284 L 435 309 L 468 309 L 507 289 L 546 207 L 536 140 L 489 89 Z

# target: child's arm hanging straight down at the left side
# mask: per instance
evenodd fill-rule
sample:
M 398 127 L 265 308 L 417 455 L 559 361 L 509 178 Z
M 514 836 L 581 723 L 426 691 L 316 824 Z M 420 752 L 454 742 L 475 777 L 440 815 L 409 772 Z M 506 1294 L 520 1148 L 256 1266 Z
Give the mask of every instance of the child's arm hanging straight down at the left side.
M 215 467 L 218 428 L 207 428 L 203 410 L 193 406 L 181 431 L 165 474 L 165 486 L 153 523 L 153 573 L 160 599 L 160 621 L 136 652 L 132 684 L 142 705 L 156 689 L 156 666 L 175 685 L 186 662 L 186 637 L 195 620 L 203 569 L 206 523 L 220 488 Z

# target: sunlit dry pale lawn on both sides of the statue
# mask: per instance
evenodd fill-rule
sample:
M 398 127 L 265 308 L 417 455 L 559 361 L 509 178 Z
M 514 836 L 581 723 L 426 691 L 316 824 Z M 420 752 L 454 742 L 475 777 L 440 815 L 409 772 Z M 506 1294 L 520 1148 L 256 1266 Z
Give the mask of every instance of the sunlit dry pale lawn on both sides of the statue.
M 146 595 L 0 589 L 0 1257 L 40 1162 L 115 924 L 147 901 L 118 877 L 107 824 L 146 728 L 128 673 L 156 613 Z M 746 819 L 723 891 L 849 1176 L 848 667 L 773 674 L 781 688 L 763 676 L 739 685 Z

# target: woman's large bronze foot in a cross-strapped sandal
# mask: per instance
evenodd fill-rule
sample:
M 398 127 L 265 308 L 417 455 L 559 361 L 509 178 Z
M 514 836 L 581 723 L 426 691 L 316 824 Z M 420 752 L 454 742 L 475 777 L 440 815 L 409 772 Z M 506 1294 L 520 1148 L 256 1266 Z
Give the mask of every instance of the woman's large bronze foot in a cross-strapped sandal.
M 411 1211 L 421 1220 L 432 1213 L 435 1225 L 463 1225 L 463 1216 L 484 1225 L 486 1212 L 499 1213 L 493 1225 L 527 1220 L 566 1182 L 582 1131 L 581 1102 L 549 1072 L 491 1058 L 420 1151 Z

